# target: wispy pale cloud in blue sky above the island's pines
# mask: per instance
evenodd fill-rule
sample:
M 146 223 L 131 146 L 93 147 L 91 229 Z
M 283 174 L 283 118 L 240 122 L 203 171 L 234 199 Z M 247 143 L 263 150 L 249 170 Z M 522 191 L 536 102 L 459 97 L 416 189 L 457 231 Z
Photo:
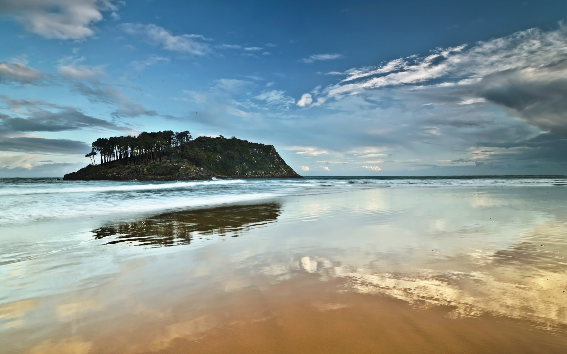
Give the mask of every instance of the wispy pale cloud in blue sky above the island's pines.
M 211 52 L 209 44 L 204 42 L 206 39 L 202 35 L 184 34 L 176 36 L 167 29 L 151 23 L 123 23 L 120 28 L 132 35 L 141 35 L 150 44 L 173 52 L 187 53 L 193 56 L 205 56 Z

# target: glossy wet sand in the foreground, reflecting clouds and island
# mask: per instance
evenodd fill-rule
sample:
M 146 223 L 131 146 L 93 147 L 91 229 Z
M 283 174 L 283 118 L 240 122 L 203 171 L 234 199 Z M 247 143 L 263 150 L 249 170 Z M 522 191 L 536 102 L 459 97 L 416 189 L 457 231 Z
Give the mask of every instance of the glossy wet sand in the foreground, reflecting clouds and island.
M 398 187 L 5 228 L 2 353 L 563 353 L 567 192 Z

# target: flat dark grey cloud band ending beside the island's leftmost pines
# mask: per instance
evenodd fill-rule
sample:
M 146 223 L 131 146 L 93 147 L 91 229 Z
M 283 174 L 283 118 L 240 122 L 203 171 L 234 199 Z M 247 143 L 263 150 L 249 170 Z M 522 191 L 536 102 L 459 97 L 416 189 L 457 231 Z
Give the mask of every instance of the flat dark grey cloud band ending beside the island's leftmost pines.
M 78 140 L 0 137 L 0 151 L 77 155 L 77 153 L 90 150 L 91 147 L 88 144 Z

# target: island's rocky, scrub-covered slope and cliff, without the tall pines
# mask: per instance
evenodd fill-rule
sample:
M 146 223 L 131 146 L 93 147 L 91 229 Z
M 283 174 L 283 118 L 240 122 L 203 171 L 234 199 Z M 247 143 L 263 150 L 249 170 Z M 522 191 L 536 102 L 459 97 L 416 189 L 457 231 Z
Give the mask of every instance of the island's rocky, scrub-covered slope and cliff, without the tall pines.
M 67 173 L 64 180 L 210 180 L 211 178 L 301 177 L 289 167 L 272 145 L 236 138 L 199 137 L 179 152 L 149 164 L 88 165 Z

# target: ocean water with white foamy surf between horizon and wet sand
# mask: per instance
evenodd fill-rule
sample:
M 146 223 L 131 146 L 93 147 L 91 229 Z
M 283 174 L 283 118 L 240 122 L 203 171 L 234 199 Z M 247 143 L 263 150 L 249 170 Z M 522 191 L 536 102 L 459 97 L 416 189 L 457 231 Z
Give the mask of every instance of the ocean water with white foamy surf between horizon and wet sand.
M 0 178 L 0 225 L 120 219 L 290 195 L 378 187 L 566 186 L 567 176 L 305 177 L 211 181 L 61 181 Z

